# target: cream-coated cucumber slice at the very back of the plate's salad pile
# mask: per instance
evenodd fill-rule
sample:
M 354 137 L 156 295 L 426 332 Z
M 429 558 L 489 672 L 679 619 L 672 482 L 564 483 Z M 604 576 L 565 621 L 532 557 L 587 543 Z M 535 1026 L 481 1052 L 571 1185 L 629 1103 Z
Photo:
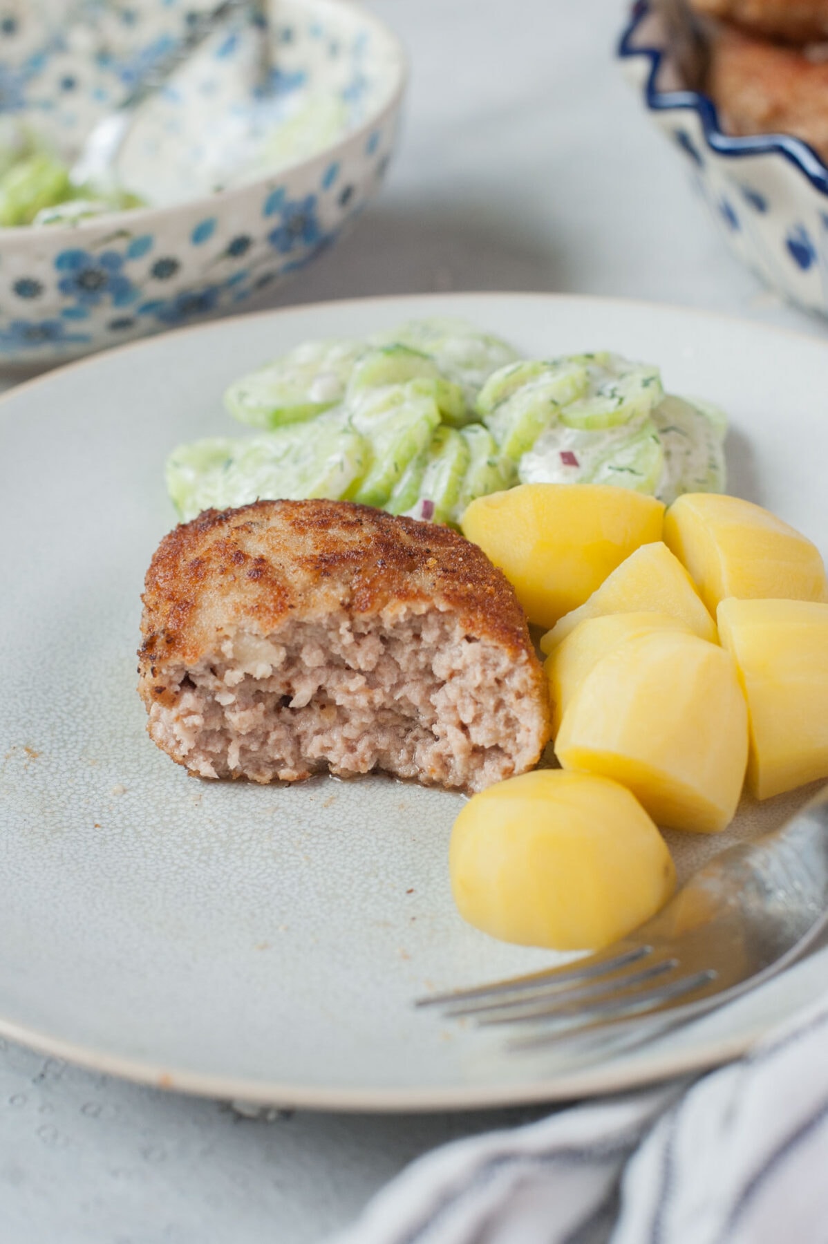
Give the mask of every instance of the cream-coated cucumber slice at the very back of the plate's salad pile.
M 466 419 L 474 418 L 475 397 L 486 377 L 520 358 L 508 342 L 481 332 L 465 320 L 448 316 L 410 320 L 388 332 L 377 333 L 370 340 L 377 345 L 394 342 L 409 346 L 429 355 L 443 376 L 460 386 Z M 460 417 L 455 422 L 459 423 Z

